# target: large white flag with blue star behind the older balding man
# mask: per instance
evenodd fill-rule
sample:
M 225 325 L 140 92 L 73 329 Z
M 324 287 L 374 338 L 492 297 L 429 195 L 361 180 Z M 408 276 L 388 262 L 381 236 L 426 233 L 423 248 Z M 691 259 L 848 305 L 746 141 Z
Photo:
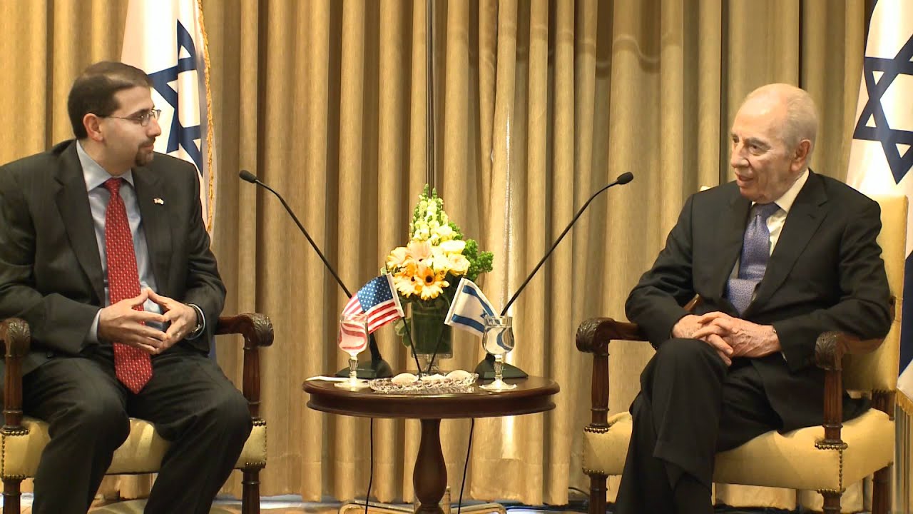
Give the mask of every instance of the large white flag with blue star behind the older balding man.
M 905 195 L 913 205 L 913 2 L 877 0 L 866 41 L 866 59 L 846 182 L 866 194 Z M 907 265 L 898 404 L 913 399 L 913 209 L 908 212 Z

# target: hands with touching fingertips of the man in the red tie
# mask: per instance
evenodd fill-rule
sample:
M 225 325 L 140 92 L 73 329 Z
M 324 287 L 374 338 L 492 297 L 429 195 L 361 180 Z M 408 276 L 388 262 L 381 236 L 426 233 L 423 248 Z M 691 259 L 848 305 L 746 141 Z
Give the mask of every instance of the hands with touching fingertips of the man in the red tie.
M 135 310 L 146 300 L 162 306 L 162 314 Z M 158 323 L 168 327 L 160 330 L 150 327 Z M 141 348 L 152 355 L 162 353 L 183 339 L 196 327 L 196 311 L 168 296 L 155 294 L 152 289 L 143 289 L 138 296 L 126 298 L 101 309 L 99 315 L 99 339 Z

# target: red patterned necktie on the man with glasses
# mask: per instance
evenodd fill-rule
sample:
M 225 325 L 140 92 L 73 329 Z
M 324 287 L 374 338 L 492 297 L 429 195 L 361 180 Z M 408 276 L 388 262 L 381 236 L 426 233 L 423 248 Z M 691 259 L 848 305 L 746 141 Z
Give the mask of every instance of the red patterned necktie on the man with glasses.
M 109 178 L 103 186 L 110 191 L 105 209 L 105 255 L 108 259 L 108 295 L 111 304 L 140 294 L 140 273 L 136 268 L 133 237 L 127 209 L 121 198 L 122 178 Z M 133 307 L 142 311 L 142 305 Z M 114 372 L 133 393 L 138 393 L 152 378 L 152 360 L 140 348 L 113 343 Z

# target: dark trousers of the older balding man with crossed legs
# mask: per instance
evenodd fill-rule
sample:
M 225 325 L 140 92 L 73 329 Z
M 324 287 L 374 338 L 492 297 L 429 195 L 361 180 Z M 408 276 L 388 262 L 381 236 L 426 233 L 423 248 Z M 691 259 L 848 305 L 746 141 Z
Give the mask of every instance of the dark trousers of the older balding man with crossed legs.
M 616 514 L 708 514 L 717 452 L 781 428 L 748 359 L 727 367 L 696 339 L 670 339 L 641 374 Z

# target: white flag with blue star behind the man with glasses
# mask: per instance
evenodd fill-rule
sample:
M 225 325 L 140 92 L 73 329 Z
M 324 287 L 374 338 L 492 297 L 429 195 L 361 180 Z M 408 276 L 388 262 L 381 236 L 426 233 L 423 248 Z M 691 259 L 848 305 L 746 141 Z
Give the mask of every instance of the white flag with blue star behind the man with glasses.
M 162 110 L 155 151 L 196 166 L 206 230 L 215 211 L 215 142 L 208 87 L 209 57 L 197 0 L 130 0 L 121 60 L 152 79 Z

